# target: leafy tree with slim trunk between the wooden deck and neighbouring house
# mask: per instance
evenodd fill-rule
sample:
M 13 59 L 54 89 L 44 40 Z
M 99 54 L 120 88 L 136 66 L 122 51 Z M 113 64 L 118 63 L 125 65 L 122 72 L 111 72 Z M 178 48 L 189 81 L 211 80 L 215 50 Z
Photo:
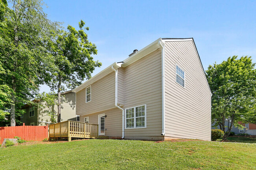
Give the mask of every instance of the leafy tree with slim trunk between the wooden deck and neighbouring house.
M 65 87 L 73 89 L 84 79 L 91 77 L 95 67 L 100 67 L 99 61 L 94 61 L 92 54 L 97 54 L 96 45 L 89 42 L 83 31 L 85 23 L 79 22 L 79 30 L 68 26 L 67 31 L 60 30 L 48 49 L 54 57 L 54 69 L 50 73 L 51 80 L 46 84 L 58 92 L 58 122 L 61 121 L 61 91 Z M 89 30 L 89 27 L 85 28 Z

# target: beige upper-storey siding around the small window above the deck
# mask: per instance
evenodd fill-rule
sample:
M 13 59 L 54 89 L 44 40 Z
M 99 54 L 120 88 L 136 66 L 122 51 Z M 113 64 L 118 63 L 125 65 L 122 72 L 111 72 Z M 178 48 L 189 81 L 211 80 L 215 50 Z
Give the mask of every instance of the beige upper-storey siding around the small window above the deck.
M 85 89 L 76 93 L 76 114 L 85 115 L 115 107 L 115 72 L 91 84 L 91 101 L 85 103 Z

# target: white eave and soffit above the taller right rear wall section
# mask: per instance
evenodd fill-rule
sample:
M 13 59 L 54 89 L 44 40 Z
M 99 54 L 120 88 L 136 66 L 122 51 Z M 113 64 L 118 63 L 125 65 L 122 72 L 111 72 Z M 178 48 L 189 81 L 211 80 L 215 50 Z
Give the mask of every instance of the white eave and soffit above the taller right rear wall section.
M 126 67 L 126 66 L 130 65 L 131 63 L 134 63 L 135 61 L 143 58 L 147 54 L 150 54 L 151 52 L 156 51 L 157 49 L 159 49 L 160 48 L 160 45 L 158 43 L 159 40 L 161 40 L 161 38 L 158 38 L 156 41 L 152 42 L 147 47 L 144 47 L 143 49 L 136 52 L 132 56 L 126 58 L 124 60 L 124 63 L 122 64 L 122 67 Z

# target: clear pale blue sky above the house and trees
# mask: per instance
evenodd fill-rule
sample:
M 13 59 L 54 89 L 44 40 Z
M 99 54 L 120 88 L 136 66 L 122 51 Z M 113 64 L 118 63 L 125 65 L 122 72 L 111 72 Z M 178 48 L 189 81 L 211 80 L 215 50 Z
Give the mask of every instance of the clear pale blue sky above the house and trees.
M 229 56 L 256 62 L 256 1 L 45 0 L 52 21 L 78 28 L 82 19 L 102 62 L 93 75 L 158 38 L 193 37 L 204 69 Z M 42 86 L 41 92 L 50 89 Z

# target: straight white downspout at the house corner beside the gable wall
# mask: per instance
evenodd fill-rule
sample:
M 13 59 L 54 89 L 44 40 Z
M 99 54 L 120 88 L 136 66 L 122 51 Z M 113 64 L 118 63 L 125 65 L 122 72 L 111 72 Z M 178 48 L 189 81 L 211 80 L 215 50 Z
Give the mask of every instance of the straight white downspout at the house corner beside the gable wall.
M 164 45 L 162 45 L 162 40 L 158 41 L 162 49 L 162 134 L 165 135 L 165 55 L 164 55 Z M 164 44 L 164 43 L 163 43 Z

